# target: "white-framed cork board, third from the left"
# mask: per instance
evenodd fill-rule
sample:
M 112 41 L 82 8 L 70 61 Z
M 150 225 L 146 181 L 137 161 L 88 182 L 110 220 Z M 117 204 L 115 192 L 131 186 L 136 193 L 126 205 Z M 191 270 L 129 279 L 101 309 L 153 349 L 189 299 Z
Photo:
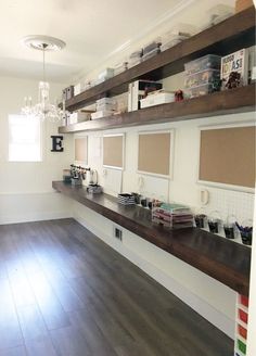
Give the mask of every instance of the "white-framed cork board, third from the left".
M 168 176 L 170 171 L 170 132 L 139 135 L 138 170 Z

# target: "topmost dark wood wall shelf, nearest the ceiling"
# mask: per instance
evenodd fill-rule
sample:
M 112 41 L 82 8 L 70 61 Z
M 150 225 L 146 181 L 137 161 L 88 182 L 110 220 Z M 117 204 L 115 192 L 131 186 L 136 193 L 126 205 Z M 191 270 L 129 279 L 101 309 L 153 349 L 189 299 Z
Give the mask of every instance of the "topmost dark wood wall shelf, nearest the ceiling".
M 104 82 L 66 101 L 66 109 L 81 109 L 104 96 L 113 97 L 128 90 L 139 79 L 159 80 L 183 71 L 185 62 L 205 54 L 226 55 L 255 44 L 255 8 L 240 12 L 188 40 L 142 62 Z

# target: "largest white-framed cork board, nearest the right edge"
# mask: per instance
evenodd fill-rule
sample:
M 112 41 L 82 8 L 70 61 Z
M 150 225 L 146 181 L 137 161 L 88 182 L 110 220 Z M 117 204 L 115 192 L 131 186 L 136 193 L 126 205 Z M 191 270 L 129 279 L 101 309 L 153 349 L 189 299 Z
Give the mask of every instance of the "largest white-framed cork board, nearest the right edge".
M 200 180 L 255 186 L 255 127 L 201 131 Z

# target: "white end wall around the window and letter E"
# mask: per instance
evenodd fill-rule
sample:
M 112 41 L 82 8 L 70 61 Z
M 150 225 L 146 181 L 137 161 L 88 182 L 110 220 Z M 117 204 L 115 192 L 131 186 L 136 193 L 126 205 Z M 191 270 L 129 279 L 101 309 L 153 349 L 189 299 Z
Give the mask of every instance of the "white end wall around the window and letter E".
M 63 85 L 51 85 L 51 98 L 60 97 Z M 24 97 L 38 96 L 38 81 L 0 77 L 0 224 L 40 220 L 71 216 L 67 200 L 51 188 L 52 180 L 62 179 L 62 169 L 73 160 L 73 138 L 64 139 L 64 152 L 51 152 L 51 135 L 57 124 L 44 123 L 42 128 L 43 161 L 8 162 L 8 116 L 20 114 Z

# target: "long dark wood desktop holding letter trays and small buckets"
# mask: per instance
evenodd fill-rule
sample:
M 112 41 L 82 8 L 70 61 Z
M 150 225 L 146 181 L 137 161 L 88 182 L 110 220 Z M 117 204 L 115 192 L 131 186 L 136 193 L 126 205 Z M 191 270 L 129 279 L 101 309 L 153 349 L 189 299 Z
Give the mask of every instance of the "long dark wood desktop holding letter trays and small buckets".
M 107 194 L 88 194 L 84 187 L 53 181 L 52 187 L 140 238 L 184 260 L 234 291 L 248 295 L 251 249 L 197 228 L 169 230 L 151 221 L 140 206 L 123 206 Z

